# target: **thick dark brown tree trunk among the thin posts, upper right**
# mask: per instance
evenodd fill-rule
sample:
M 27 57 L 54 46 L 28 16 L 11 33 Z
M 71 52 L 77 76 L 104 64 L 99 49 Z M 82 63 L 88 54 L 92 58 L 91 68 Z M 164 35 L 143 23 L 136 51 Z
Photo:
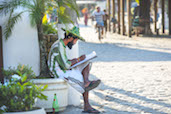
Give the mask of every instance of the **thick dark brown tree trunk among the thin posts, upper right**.
M 140 0 L 140 25 L 144 28 L 144 34 L 151 34 L 150 6 L 150 0 Z

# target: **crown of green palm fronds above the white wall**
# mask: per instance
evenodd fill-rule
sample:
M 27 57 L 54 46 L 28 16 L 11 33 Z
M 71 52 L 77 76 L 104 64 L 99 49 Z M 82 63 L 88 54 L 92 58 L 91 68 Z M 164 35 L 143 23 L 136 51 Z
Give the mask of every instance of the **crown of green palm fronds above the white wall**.
M 14 11 L 19 7 L 23 7 L 24 10 L 15 14 Z M 11 35 L 14 25 L 24 12 L 29 13 L 30 23 L 33 27 L 41 24 L 42 18 L 48 8 L 51 10 L 52 8 L 57 9 L 58 19 L 61 23 L 72 22 L 70 16 L 67 16 L 65 13 L 65 7 L 74 10 L 79 16 L 75 0 L 4 0 L 0 3 L 0 13 L 5 15 L 10 14 L 4 31 L 6 39 Z

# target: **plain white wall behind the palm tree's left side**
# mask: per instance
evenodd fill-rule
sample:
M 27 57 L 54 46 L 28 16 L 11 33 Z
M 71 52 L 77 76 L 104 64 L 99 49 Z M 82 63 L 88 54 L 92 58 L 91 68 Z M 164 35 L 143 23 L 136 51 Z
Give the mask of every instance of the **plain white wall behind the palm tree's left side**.
M 17 11 L 21 11 L 18 9 Z M 0 15 L 0 26 L 4 32 L 4 24 L 7 17 Z M 32 67 L 36 75 L 39 75 L 40 64 L 38 33 L 36 28 L 30 26 L 28 14 L 23 14 L 22 19 L 14 26 L 12 35 L 5 40 L 3 35 L 3 59 L 4 69 L 16 67 L 19 63 Z

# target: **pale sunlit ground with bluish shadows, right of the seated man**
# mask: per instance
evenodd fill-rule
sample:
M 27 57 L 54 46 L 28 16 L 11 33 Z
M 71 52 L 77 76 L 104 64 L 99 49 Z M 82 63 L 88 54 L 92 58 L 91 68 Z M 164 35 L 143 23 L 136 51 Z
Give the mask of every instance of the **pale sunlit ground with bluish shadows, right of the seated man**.
M 90 24 L 89 24 L 90 25 Z M 95 30 L 80 24 L 80 55 L 96 51 L 90 79 L 101 79 L 90 103 L 106 114 L 171 114 L 171 38 L 120 36 L 108 33 L 99 42 Z M 60 114 L 80 114 L 69 106 Z

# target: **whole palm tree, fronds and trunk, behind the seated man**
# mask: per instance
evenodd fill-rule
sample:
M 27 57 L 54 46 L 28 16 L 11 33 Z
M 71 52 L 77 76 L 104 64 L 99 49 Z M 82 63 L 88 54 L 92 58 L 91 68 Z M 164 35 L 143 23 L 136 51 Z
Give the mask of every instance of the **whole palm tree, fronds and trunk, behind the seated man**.
M 23 13 L 29 13 L 30 24 L 32 27 L 37 27 L 38 40 L 40 47 L 40 75 L 48 75 L 48 67 L 46 64 L 46 50 L 45 42 L 43 40 L 43 28 L 42 19 L 45 14 L 45 7 L 51 6 L 57 8 L 58 19 L 61 23 L 72 22 L 68 15 L 65 15 L 66 7 L 77 12 L 78 7 L 76 2 L 71 0 L 4 0 L 0 3 L 0 13 L 4 15 L 9 15 L 8 22 L 6 24 L 4 35 L 5 38 L 11 35 L 14 25 L 21 19 Z M 23 11 L 16 13 L 15 10 L 19 7 L 23 8 Z

